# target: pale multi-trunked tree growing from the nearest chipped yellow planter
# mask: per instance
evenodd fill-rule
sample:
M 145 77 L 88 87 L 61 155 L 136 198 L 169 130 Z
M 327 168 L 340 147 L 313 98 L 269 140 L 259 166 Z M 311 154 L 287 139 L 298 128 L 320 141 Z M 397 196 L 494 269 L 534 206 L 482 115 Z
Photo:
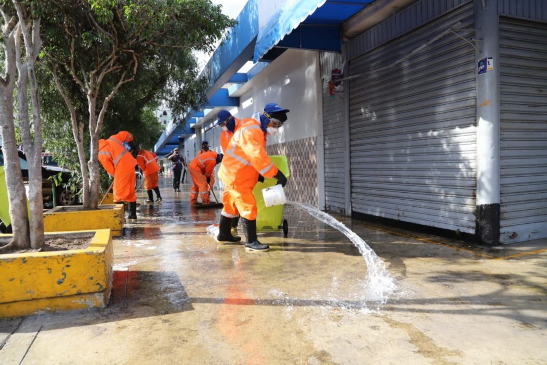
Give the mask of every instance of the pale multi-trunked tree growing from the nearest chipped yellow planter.
M 4 171 L 10 202 L 9 215 L 13 240 L 3 248 L 39 248 L 44 244 L 42 205 L 42 123 L 39 91 L 34 63 L 41 47 L 40 16 L 37 1 L 13 0 L 0 3 L 3 18 L 5 76 L 0 77 L 0 126 Z M 21 44 L 21 36 L 23 44 Z M 31 221 L 27 216 L 26 193 L 15 137 L 13 91 L 18 74 L 18 102 L 21 137 L 28 162 Z M 30 82 L 30 83 L 29 83 Z M 28 113 L 28 94 L 32 105 L 32 127 Z

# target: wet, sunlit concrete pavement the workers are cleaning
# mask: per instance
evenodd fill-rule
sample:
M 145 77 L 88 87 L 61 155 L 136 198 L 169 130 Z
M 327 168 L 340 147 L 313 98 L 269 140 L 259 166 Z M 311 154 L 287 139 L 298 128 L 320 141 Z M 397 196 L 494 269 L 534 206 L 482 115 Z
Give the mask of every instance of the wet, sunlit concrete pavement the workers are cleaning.
M 547 240 L 476 249 L 336 217 L 397 281 L 373 303 L 357 248 L 300 208 L 246 252 L 160 181 L 114 240 L 110 305 L 0 321 L 0 364 L 547 363 Z

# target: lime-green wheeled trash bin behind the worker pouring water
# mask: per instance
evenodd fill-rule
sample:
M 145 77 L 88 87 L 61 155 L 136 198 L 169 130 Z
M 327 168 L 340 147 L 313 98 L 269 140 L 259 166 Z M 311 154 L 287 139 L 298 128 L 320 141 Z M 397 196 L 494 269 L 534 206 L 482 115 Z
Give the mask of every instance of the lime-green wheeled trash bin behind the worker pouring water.
M 287 156 L 270 156 L 270 159 L 276 164 L 277 169 L 281 170 L 288 179 L 290 177 L 290 172 Z M 287 237 L 289 227 L 287 219 L 283 219 L 284 205 L 266 207 L 264 204 L 264 197 L 262 196 L 263 189 L 272 187 L 275 184 L 277 184 L 276 179 L 265 179 L 263 183 L 259 182 L 253 189 L 254 199 L 257 200 L 258 208 L 257 231 L 272 232 L 283 229 L 283 235 Z

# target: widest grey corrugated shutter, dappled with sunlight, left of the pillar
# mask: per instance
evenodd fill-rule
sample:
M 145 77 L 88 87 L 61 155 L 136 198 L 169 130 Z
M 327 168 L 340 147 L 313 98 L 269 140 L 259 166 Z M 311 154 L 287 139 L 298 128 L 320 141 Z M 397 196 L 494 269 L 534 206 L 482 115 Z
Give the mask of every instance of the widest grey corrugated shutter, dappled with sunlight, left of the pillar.
M 475 233 L 474 49 L 449 34 L 380 69 L 457 21 L 473 3 L 350 62 L 353 212 Z

